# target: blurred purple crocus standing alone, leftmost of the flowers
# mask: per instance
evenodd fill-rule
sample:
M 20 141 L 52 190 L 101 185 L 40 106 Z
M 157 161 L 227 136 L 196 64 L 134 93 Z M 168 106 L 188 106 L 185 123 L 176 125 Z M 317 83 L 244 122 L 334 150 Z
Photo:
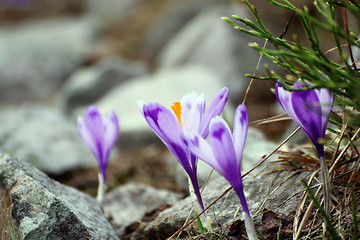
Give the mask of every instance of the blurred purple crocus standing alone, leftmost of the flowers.
M 110 112 L 109 118 L 104 118 L 95 106 L 89 106 L 85 118 L 78 117 L 78 132 L 99 164 L 98 200 L 101 202 L 110 152 L 119 137 L 118 118 L 113 111 Z

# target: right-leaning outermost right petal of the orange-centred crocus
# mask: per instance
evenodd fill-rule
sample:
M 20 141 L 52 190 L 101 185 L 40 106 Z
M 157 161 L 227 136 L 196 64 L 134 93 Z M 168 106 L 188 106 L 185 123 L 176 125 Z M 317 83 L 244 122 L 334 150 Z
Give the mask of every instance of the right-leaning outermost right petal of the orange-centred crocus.
M 228 98 L 229 98 L 229 89 L 224 87 L 219 91 L 219 93 L 212 100 L 210 107 L 204 116 L 202 128 L 200 130 L 200 133 L 202 134 L 202 136 L 204 138 L 209 133 L 208 126 L 209 126 L 210 120 L 213 117 L 219 116 L 222 113 Z

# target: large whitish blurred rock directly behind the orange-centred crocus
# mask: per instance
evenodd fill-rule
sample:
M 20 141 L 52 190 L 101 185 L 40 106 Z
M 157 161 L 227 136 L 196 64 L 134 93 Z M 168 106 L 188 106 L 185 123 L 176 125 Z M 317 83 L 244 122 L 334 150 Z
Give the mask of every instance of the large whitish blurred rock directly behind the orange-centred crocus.
M 114 110 L 119 116 L 122 138 L 120 143 L 131 145 L 156 138 L 146 123 L 137 104 L 159 102 L 170 108 L 173 102 L 187 93 L 204 93 L 208 102 L 224 87 L 217 76 L 201 66 L 185 66 L 160 70 L 151 75 L 131 79 L 113 89 L 96 105 L 101 111 Z M 82 111 L 78 111 L 83 114 Z

